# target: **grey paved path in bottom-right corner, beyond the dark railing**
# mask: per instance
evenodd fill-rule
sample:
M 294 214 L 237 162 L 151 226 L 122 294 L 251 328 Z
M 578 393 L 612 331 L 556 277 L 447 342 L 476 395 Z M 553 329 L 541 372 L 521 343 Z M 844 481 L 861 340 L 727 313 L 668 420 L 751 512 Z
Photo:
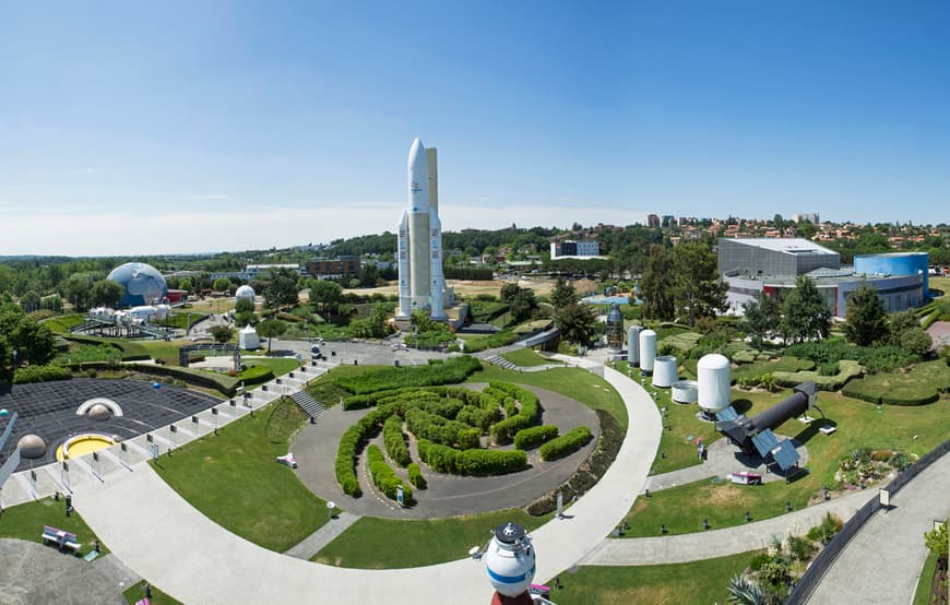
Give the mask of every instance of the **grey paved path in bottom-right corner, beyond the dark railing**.
M 911 603 L 927 558 L 924 532 L 950 514 L 950 454 L 931 464 L 860 529 L 809 603 Z

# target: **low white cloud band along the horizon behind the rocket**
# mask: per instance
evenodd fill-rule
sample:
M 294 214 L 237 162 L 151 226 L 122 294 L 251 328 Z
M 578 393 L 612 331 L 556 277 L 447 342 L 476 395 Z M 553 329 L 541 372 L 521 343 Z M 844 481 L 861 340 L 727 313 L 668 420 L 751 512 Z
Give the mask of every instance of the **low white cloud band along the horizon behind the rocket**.
M 401 203 L 268 207 L 264 210 L 154 209 L 102 213 L 63 210 L 4 213 L 0 254 L 162 254 L 288 247 L 309 241 L 395 232 Z M 645 213 L 610 207 L 515 205 L 442 205 L 446 230 L 570 226 L 607 223 L 629 225 Z M 486 210 L 488 210 L 486 212 Z

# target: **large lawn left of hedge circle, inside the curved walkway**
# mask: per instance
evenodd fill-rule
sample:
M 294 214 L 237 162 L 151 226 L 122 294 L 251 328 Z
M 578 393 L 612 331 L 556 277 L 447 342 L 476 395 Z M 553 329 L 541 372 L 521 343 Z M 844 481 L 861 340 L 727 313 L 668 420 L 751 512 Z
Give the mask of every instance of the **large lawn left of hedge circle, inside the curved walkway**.
M 296 404 L 278 400 L 151 464 L 210 519 L 283 553 L 326 522 L 325 502 L 274 461 L 306 422 Z

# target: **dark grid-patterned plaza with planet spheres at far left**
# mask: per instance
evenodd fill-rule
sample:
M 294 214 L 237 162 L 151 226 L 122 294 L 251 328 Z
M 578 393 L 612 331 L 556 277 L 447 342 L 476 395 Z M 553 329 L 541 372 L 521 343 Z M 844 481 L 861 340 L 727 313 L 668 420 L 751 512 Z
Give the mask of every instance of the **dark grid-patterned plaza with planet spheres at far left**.
M 122 416 L 108 420 L 93 420 L 78 416 L 76 408 L 94 398 L 115 401 Z M 35 434 L 46 441 L 46 456 L 24 460 L 17 471 L 56 461 L 56 448 L 68 437 L 79 432 L 116 435 L 130 439 L 165 425 L 190 417 L 219 400 L 205 393 L 163 384 L 154 389 L 151 381 L 96 380 L 73 378 L 55 382 L 15 384 L 0 393 L 0 407 L 17 412 L 20 418 L 3 450 L 9 455 L 21 437 Z

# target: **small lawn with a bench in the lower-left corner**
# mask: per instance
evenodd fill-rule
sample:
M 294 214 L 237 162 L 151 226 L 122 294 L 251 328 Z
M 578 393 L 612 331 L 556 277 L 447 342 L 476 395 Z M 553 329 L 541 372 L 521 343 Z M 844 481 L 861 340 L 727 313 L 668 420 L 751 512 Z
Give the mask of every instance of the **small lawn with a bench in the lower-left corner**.
M 66 501 L 57 502 L 52 498 L 3 509 L 3 513 L 0 514 L 0 537 L 15 537 L 41 544 L 44 525 L 74 533 L 76 541 L 82 544 L 78 556 L 84 556 L 94 548 L 93 541 L 97 536 L 90 530 L 83 518 L 75 510 L 67 517 Z M 100 546 L 103 554 L 109 551 L 104 544 Z

